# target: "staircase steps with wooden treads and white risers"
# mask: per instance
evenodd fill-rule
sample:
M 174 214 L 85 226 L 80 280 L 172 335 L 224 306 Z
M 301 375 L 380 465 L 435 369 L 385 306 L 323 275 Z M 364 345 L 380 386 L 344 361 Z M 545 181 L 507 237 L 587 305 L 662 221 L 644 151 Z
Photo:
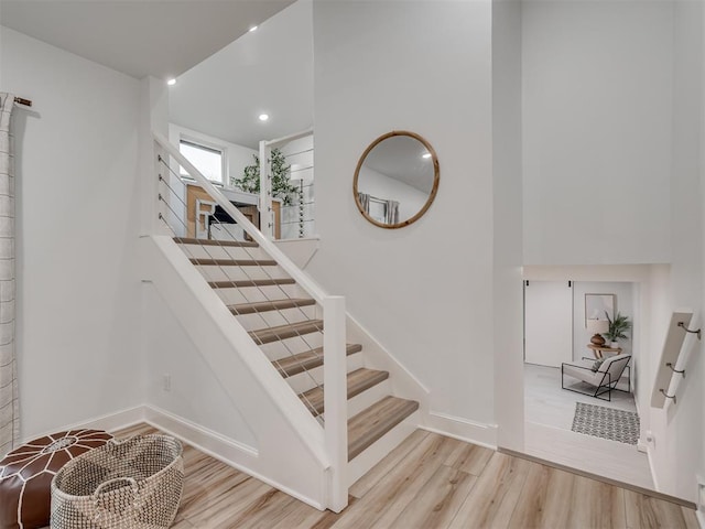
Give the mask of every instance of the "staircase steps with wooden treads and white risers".
M 303 406 L 325 421 L 322 307 L 256 242 L 174 241 Z M 347 344 L 346 355 L 351 484 L 406 436 L 419 403 L 393 395 L 388 371 L 366 367 L 362 345 Z

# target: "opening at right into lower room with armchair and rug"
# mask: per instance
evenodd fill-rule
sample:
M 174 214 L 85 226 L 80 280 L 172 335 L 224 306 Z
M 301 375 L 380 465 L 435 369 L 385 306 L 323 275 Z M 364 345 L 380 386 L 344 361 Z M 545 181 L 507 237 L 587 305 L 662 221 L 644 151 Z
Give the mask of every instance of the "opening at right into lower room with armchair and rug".
M 597 296 L 598 295 L 598 296 Z M 597 296 L 597 298 L 596 298 Z M 595 300 L 614 300 L 606 315 L 595 313 Z M 588 320 L 614 320 L 619 313 L 638 323 L 639 284 L 610 281 L 524 281 L 524 452 L 572 468 L 653 489 L 648 457 L 630 442 L 605 439 L 599 429 L 578 433 L 581 413 L 638 417 L 630 367 L 625 369 L 610 400 L 575 392 L 592 387 L 565 377 L 562 366 L 583 365 L 592 370 L 599 358 L 592 344 Z M 627 334 L 606 357 L 631 355 L 637 333 Z M 564 389 L 566 386 L 568 389 Z M 587 386 L 587 387 L 582 387 Z M 606 396 L 605 396 L 606 397 Z M 623 412 L 623 413 L 622 413 Z M 627 418 L 627 419 L 622 419 Z M 576 428 L 577 427 L 577 428 Z M 636 427 L 637 432 L 639 427 Z M 609 435 L 607 435 L 609 436 Z

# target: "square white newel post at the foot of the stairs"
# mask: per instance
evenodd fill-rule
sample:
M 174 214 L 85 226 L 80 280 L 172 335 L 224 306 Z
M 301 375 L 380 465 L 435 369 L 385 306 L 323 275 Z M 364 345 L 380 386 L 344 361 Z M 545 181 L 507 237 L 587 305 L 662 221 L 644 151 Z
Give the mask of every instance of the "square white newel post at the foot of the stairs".
M 323 365 L 325 442 L 330 457 L 329 505 L 340 512 L 348 505 L 348 419 L 345 298 L 323 299 Z

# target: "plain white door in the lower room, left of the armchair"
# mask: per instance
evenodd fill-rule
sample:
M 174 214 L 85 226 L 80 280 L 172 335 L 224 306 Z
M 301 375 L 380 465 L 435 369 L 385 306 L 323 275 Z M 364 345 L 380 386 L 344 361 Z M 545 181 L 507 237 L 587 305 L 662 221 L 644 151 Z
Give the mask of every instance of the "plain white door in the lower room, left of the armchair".
M 561 367 L 572 359 L 572 283 L 524 282 L 524 361 Z

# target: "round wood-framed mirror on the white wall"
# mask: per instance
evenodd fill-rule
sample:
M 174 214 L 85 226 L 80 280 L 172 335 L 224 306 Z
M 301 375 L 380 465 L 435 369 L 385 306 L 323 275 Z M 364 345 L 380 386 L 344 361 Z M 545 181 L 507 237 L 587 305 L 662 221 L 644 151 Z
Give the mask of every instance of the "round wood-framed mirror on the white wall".
M 431 207 L 438 159 L 421 136 L 394 130 L 368 147 L 355 170 L 352 193 L 362 216 L 380 228 L 402 228 Z

